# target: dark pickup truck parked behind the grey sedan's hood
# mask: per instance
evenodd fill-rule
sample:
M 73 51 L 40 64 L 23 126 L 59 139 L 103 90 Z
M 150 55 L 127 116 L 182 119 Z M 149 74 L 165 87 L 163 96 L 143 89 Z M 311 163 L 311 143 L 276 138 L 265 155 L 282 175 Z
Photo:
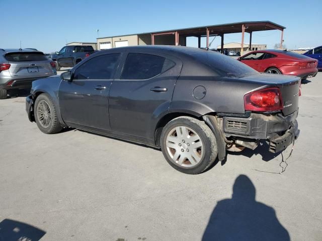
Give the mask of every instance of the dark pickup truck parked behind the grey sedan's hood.
M 94 52 L 94 48 L 90 45 L 69 45 L 53 54 L 51 60 L 56 62 L 56 70 L 59 71 L 61 67 L 74 67 Z

